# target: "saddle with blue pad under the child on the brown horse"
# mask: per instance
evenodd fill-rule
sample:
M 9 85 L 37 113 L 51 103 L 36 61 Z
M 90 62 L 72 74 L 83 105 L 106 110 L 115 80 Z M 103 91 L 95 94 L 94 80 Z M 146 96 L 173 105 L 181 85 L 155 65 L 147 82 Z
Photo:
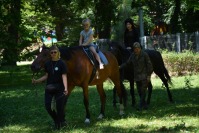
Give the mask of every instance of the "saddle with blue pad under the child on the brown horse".
M 90 80 L 89 80 L 89 83 L 90 83 L 93 80 L 93 78 L 95 77 L 95 74 L 97 72 L 97 68 L 99 68 L 99 63 L 96 60 L 96 58 L 93 55 L 93 53 L 89 50 L 88 46 L 84 46 L 83 50 L 84 50 L 85 54 L 87 55 L 87 57 L 89 58 L 90 62 L 93 64 L 93 71 L 92 71 L 92 74 L 91 74 L 91 77 L 90 77 Z M 104 65 L 107 65 L 108 64 L 108 60 L 107 60 L 106 56 L 99 50 L 98 47 L 96 48 L 96 52 L 98 53 L 102 63 Z

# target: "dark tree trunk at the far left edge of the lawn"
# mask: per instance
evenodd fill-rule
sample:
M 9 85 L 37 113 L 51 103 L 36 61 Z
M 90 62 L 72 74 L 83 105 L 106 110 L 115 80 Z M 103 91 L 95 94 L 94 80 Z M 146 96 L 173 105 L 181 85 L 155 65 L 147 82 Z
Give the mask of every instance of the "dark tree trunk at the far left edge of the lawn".
M 12 0 L 8 9 L 8 42 L 3 51 L 3 65 L 16 65 L 19 57 L 19 25 L 21 23 L 21 0 Z

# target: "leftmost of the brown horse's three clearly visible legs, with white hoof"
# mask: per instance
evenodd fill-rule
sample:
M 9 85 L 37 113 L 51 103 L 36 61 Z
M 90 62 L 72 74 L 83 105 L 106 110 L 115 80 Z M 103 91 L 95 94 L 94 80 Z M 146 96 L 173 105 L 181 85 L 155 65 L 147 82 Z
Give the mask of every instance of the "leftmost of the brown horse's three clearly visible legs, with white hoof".
M 90 123 L 90 111 L 89 111 L 89 102 L 88 102 L 88 85 L 85 85 L 82 87 L 83 88 L 83 94 L 84 94 L 84 106 L 86 109 L 86 119 L 85 123 L 89 124 Z

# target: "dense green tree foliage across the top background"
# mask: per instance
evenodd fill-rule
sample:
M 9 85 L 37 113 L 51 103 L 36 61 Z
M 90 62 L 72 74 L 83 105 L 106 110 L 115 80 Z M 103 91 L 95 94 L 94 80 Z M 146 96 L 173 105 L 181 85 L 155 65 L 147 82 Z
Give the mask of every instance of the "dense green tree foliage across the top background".
M 145 35 L 159 21 L 169 25 L 170 33 L 199 29 L 198 0 L 1 0 L 0 57 L 5 64 L 16 64 L 21 52 L 46 30 L 55 30 L 57 40 L 65 45 L 78 45 L 84 18 L 92 20 L 99 38 L 121 41 L 127 17 L 139 26 L 140 7 Z

